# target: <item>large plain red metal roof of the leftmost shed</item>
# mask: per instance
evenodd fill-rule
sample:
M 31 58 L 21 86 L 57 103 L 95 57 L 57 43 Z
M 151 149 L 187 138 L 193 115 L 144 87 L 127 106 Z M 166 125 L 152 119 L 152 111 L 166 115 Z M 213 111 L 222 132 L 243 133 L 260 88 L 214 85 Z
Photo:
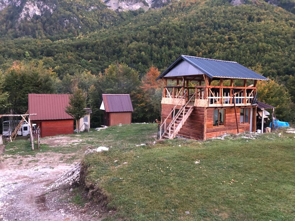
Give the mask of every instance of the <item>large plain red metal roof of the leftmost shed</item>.
M 32 121 L 73 119 L 65 113 L 69 105 L 69 94 L 28 94 L 29 113 Z

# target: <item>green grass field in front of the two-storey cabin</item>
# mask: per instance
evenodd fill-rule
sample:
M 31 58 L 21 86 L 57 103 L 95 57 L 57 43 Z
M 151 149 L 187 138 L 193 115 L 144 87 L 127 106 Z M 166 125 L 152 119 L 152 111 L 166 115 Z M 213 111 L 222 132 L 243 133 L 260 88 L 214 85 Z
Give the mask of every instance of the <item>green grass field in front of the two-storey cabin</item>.
M 155 124 L 132 124 L 71 135 L 83 140 L 74 150 L 109 147 L 82 161 L 87 184 L 102 189 L 116 209 L 104 220 L 294 220 L 294 134 L 154 145 L 156 133 Z M 136 146 L 142 143 L 148 145 Z

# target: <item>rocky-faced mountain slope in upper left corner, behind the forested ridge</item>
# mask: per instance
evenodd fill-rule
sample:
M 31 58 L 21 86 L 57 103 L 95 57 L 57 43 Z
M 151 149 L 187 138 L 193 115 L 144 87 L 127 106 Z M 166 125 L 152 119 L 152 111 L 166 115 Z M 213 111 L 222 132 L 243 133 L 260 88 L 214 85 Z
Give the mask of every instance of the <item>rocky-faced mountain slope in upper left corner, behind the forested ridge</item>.
M 107 28 L 120 18 L 103 2 L 3 0 L 0 36 L 58 39 Z

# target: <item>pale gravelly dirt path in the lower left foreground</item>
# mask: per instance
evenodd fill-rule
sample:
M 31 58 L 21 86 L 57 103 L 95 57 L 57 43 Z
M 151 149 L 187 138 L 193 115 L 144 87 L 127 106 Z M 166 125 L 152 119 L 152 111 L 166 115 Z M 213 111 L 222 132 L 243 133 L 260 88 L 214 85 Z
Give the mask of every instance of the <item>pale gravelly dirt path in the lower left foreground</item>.
M 73 155 L 0 155 L 0 220 L 99 220 L 97 211 L 71 202 L 69 186 L 47 189 L 80 160 Z

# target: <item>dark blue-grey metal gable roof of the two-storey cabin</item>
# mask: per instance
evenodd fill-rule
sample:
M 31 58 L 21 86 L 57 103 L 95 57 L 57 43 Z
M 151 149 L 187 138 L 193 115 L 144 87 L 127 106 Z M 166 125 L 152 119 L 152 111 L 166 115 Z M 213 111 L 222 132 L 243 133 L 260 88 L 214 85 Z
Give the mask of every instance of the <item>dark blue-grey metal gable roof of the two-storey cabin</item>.
M 179 70 L 173 73 L 173 69 L 179 62 L 188 62 L 193 69 L 178 68 Z M 194 70 L 195 69 L 195 70 Z M 181 71 L 182 70 L 182 71 Z M 191 71 L 191 73 L 188 73 Z M 169 73 L 171 72 L 171 73 Z M 193 57 L 181 55 L 170 67 L 168 67 L 158 78 L 162 77 L 176 77 L 184 75 L 200 75 L 205 74 L 210 78 L 240 78 L 240 79 L 254 79 L 254 80 L 268 80 L 260 74 L 240 65 L 233 61 L 214 60 L 201 57 Z M 168 76 L 167 76 L 168 75 Z

